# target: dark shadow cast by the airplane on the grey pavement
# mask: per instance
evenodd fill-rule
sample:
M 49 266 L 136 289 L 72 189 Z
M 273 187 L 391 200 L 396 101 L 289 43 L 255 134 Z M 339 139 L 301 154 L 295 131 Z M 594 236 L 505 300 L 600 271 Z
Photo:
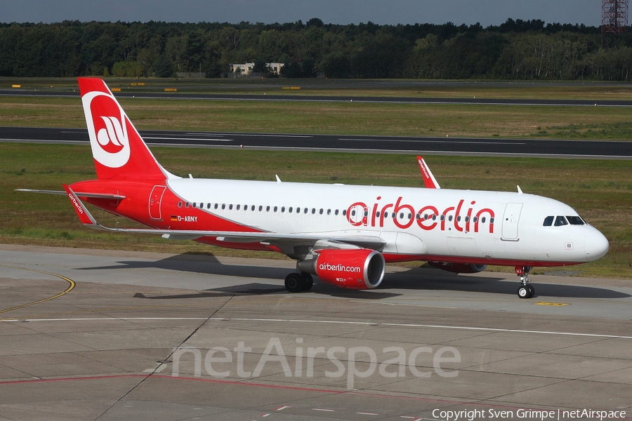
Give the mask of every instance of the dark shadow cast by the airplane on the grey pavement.
M 282 280 L 291 272 L 283 267 L 223 265 L 213 256 L 176 255 L 162 260 L 121 261 L 118 265 L 86 267 L 83 270 L 102 269 L 145 269 L 158 268 L 178 272 L 192 272 L 197 274 L 239 276 L 254 279 Z M 515 278 L 515 279 L 514 279 Z M 510 281 L 510 282 L 508 282 Z M 632 295 L 621 293 L 608 288 L 591 286 L 558 285 L 553 283 L 533 283 L 536 295 L 534 298 L 630 298 Z M 381 300 L 403 295 L 402 290 L 453 290 L 464 292 L 480 292 L 515 295 L 518 288 L 518 278 L 513 274 L 499 274 L 498 277 L 480 277 L 461 274 L 451 274 L 440 269 L 411 268 L 405 272 L 386 274 L 381 286 L 374 290 L 347 290 L 328 283 L 323 283 L 315 277 L 315 283 L 310 292 L 327 294 L 339 298 L 360 298 L 363 300 Z M 394 292 L 393 290 L 398 290 Z M 200 293 L 178 295 L 160 295 L 147 297 L 143 294 L 136 298 L 152 300 L 166 300 L 169 298 L 205 298 L 230 295 L 263 295 L 284 294 L 284 287 L 279 284 L 245 283 L 222 288 L 209 288 Z

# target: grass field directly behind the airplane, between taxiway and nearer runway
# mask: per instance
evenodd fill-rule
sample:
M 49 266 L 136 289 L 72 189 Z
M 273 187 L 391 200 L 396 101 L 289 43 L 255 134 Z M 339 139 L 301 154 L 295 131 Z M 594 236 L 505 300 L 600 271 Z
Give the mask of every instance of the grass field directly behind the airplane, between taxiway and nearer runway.
M 196 178 L 237 178 L 422 187 L 414 156 L 324 152 L 261 152 L 225 149 L 153 148 L 169 171 Z M 426 156 L 444 188 L 515 191 L 552 197 L 576 208 L 610 240 L 605 258 L 573 267 L 583 276 L 632 279 L 632 171 L 629 161 L 470 158 Z M 244 163 L 248 165 L 244 165 Z M 88 146 L 0 144 L 0 242 L 50 246 L 153 250 L 169 253 L 258 255 L 166 241 L 159 236 L 110 234 L 85 229 L 64 196 L 14 192 L 17 188 L 60 189 L 94 177 Z M 127 220 L 96 212 L 105 225 Z M 510 268 L 511 270 L 511 268 Z M 556 269 L 537 269 L 536 273 Z

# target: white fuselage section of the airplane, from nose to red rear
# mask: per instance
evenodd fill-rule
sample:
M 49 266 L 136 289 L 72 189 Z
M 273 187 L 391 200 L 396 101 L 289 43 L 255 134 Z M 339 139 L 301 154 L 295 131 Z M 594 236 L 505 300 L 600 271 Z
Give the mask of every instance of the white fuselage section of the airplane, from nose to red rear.
M 570 206 L 532 194 L 186 178 L 168 186 L 183 214 L 195 203 L 264 232 L 379 236 L 387 260 L 548 266 L 596 260 L 608 248 Z M 576 225 L 545 226 L 547 217 Z

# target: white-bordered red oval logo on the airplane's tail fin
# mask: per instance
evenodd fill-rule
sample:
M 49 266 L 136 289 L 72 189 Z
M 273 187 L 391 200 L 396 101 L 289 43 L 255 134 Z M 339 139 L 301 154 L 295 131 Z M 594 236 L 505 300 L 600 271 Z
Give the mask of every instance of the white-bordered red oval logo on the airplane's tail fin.
M 92 91 L 81 98 L 94 159 L 104 166 L 120 168 L 129 161 L 127 116 L 110 93 Z

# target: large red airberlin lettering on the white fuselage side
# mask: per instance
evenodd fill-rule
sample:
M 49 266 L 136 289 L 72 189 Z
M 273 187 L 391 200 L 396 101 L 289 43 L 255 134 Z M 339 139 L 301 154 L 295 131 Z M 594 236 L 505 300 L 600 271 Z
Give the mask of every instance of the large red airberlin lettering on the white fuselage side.
M 402 203 L 400 196 L 395 203 L 381 204 L 378 201 L 371 207 L 364 202 L 355 202 L 347 209 L 347 220 L 354 227 L 370 226 L 384 227 L 385 221 L 393 221 L 400 229 L 412 227 L 413 223 L 426 231 L 438 228 L 441 231 L 456 229 L 459 232 L 479 232 L 480 225 L 489 225 L 489 233 L 494 233 L 494 210 L 489 208 L 475 208 L 476 201 L 464 207 L 465 200 L 461 199 L 456 206 L 448 206 L 439 210 L 436 206 L 423 206 L 415 212 L 412 205 Z

